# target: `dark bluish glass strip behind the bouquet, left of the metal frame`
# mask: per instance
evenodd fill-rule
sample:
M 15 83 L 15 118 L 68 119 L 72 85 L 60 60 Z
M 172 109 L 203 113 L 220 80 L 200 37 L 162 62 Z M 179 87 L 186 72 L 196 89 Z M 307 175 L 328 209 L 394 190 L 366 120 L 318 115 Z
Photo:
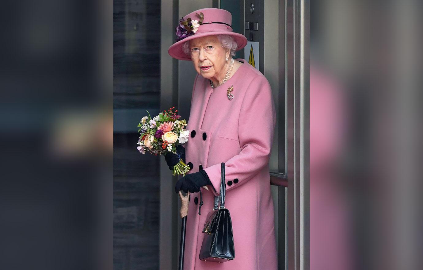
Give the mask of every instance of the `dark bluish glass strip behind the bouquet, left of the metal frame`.
M 159 267 L 159 158 L 136 149 L 159 113 L 160 1 L 113 1 L 113 267 Z

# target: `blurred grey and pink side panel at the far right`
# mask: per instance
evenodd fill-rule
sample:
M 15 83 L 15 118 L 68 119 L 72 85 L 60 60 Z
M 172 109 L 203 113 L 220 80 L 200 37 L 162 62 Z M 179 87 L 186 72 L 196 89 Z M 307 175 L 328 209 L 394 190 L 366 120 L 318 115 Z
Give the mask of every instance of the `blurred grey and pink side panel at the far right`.
M 423 268 L 422 10 L 310 1 L 312 269 Z

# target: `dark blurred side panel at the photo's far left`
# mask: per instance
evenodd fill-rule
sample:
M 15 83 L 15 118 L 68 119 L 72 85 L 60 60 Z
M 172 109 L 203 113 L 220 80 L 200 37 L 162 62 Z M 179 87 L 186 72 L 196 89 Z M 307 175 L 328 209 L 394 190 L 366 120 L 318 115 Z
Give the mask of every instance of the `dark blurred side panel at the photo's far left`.
M 112 10 L 2 2 L 1 269 L 112 267 Z

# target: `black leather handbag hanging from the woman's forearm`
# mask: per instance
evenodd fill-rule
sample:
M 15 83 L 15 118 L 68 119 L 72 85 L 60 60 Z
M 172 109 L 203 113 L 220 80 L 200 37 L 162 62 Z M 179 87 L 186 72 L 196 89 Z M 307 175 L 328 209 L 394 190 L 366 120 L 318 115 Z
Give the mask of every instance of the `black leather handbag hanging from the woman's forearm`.
M 204 237 L 199 256 L 202 261 L 208 262 L 227 262 L 235 259 L 231 215 L 225 208 L 225 163 L 220 164 L 222 165 L 220 196 L 214 197 L 213 211 L 209 212 L 204 223 Z

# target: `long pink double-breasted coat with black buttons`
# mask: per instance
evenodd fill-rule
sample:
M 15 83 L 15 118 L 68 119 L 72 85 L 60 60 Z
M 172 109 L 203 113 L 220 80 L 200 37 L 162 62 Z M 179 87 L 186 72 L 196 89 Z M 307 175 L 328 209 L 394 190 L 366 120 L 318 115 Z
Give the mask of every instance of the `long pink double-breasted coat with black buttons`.
M 243 59 L 237 59 L 244 61 Z M 227 96 L 233 85 L 233 99 Z M 210 80 L 197 75 L 185 144 L 192 169 L 206 171 L 213 187 L 190 193 L 185 238 L 184 270 L 274 270 L 277 252 L 273 201 L 270 193 L 269 158 L 276 123 L 269 82 L 246 61 L 223 85 L 211 88 Z M 220 193 L 220 163 L 225 163 L 225 208 L 231 213 L 235 259 L 205 262 L 199 259 L 203 225 Z

